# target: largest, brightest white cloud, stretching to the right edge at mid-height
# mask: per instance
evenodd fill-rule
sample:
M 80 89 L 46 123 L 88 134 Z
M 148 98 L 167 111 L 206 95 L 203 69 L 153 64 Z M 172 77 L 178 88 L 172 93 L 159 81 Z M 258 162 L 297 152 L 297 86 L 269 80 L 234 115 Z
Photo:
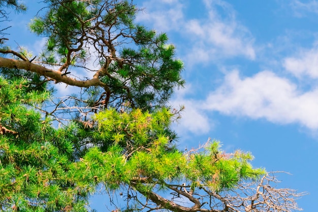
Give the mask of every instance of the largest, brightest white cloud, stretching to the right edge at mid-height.
M 300 92 L 288 79 L 263 71 L 241 79 L 229 73 L 223 85 L 202 102 L 207 111 L 231 116 L 264 118 L 274 123 L 300 123 L 318 129 L 318 90 Z

